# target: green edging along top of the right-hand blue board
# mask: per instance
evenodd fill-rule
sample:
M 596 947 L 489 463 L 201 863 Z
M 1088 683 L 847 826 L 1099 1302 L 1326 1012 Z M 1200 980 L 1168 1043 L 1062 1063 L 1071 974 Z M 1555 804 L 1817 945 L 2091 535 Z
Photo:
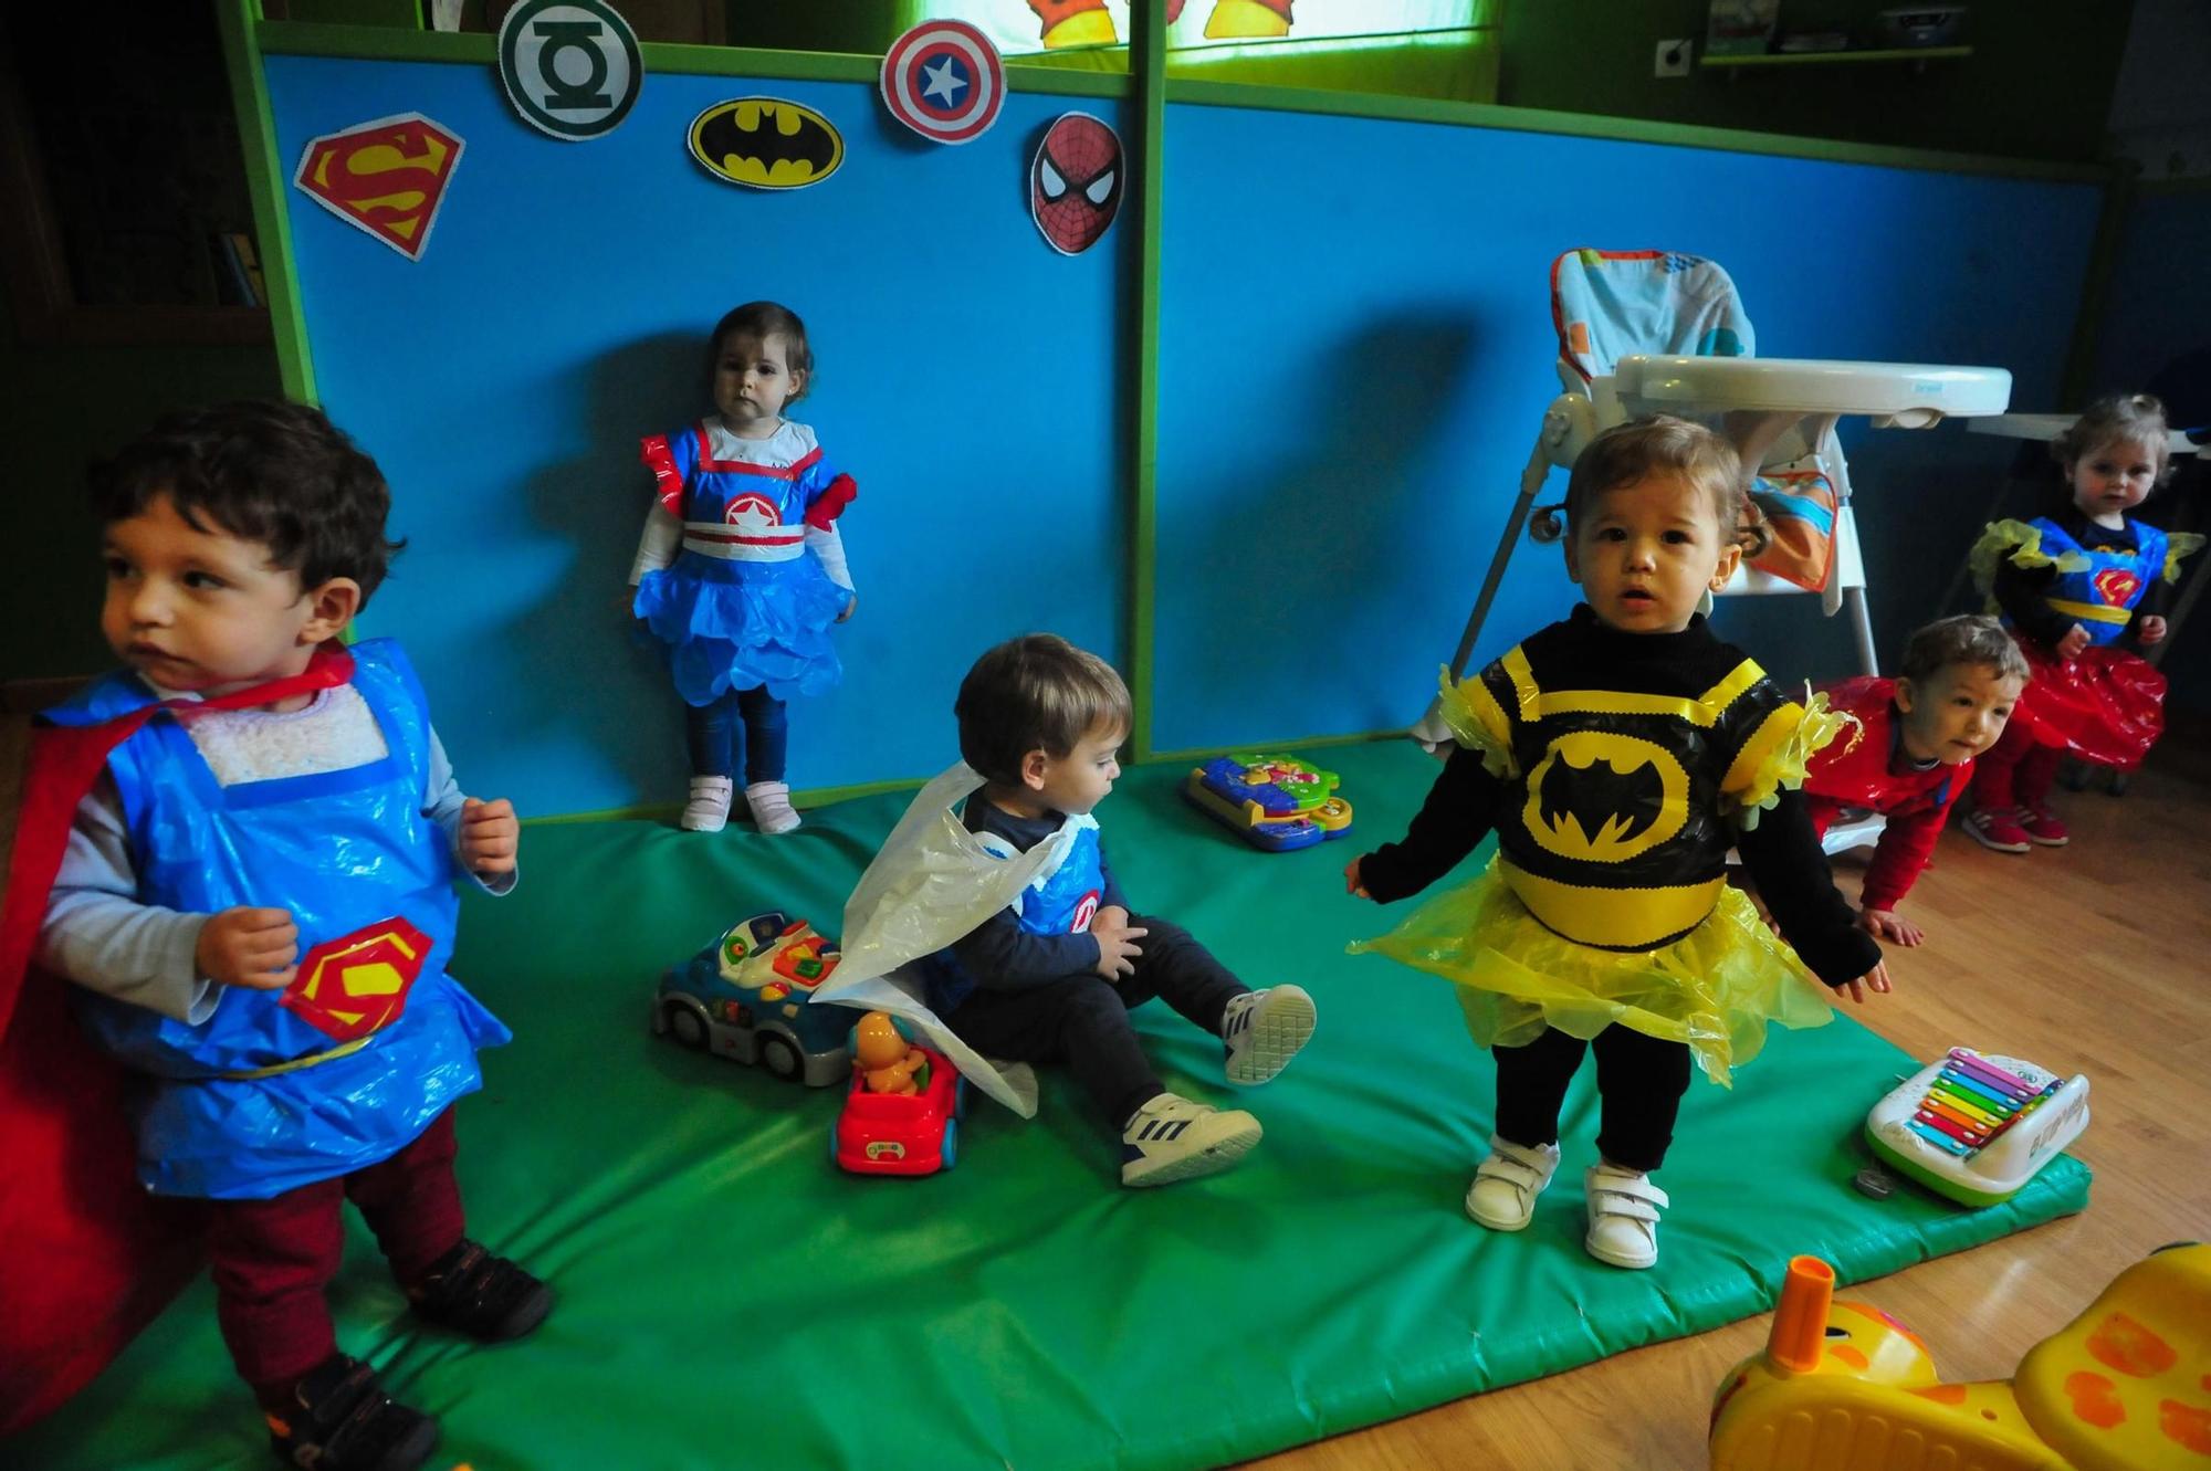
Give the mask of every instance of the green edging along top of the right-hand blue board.
M 1654 124 L 1638 117 L 1596 117 L 1592 113 L 1548 113 L 1543 108 L 1508 108 L 1492 102 L 1437 102 L 1433 97 L 1382 97 L 1377 93 L 1320 93 L 1287 86 L 1249 86 L 1240 82 L 1167 80 L 1167 102 L 1209 108 L 1265 108 L 1276 113 L 1327 113 L 1335 117 L 1380 117 L 1391 121 L 1433 121 L 1457 128 L 1497 128 L 1501 133 L 1561 133 L 1599 137 L 1616 144 L 1667 144 L 1674 148 L 1711 148 L 1718 152 L 1756 152 L 1822 163 L 1873 163 L 1877 168 L 1924 168 L 1950 174 L 1992 174 L 1999 179 L 2045 179 L 2058 183 L 2107 183 L 2112 170 L 2098 163 L 2052 163 L 2041 159 L 2003 159 L 1981 152 L 1937 152 L 1930 148 L 1886 148 L 1877 144 L 1840 144 L 1822 137 L 1786 133 L 1744 133 L 1738 128 L 1702 128 L 1691 124 Z

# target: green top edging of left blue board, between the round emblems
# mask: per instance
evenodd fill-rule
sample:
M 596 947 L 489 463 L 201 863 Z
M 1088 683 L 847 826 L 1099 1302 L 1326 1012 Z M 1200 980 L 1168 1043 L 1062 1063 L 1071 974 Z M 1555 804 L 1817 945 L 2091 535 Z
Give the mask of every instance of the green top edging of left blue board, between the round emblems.
M 646 73 L 694 77 L 774 77 L 778 82 L 876 82 L 880 55 L 834 51 L 758 51 L 750 46 L 692 46 L 639 42 Z M 365 62 L 462 62 L 491 66 L 497 38 L 482 31 L 394 31 L 389 27 L 338 27 L 307 20 L 261 22 L 268 55 L 329 55 Z M 1055 66 L 1006 66 L 1006 88 L 1066 97 L 1125 97 L 1130 80 L 1108 73 L 1059 71 Z

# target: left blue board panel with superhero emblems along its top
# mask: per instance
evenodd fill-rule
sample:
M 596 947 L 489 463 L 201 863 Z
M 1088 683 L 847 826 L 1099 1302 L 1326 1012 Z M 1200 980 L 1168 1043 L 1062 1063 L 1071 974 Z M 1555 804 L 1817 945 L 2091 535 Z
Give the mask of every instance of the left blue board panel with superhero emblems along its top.
M 1030 627 L 1121 656 L 1128 404 L 1117 250 L 1059 256 L 1028 152 L 1070 106 L 1013 95 L 942 148 L 873 86 L 648 75 L 612 135 L 555 141 L 489 66 L 268 57 L 279 157 L 425 113 L 464 139 L 420 263 L 285 190 L 323 404 L 378 457 L 409 539 L 363 629 L 396 634 L 471 791 L 524 813 L 681 800 L 677 696 L 624 607 L 650 477 L 637 440 L 712 409 L 705 334 L 774 298 L 807 320 L 816 426 L 860 481 L 845 685 L 792 707 L 792 782 L 929 775 L 968 663 Z M 789 192 L 685 150 L 714 102 L 789 97 L 847 157 Z

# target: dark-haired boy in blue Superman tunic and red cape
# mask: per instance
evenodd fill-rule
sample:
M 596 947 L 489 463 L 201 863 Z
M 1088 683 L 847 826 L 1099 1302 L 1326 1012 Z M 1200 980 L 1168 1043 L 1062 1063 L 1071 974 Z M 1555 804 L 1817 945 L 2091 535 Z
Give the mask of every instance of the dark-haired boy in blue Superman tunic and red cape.
M 46 711 L 0 928 L 7 1316 L 35 1338 L 11 1352 L 66 1365 L 11 1411 L 97 1369 L 199 1224 L 287 1464 L 400 1471 L 438 1440 L 336 1350 L 347 1199 L 418 1316 L 491 1341 L 551 1308 L 464 1237 L 453 1177 L 451 1107 L 511 1036 L 444 970 L 453 881 L 509 890 L 520 828 L 460 793 L 405 654 L 334 643 L 396 550 L 387 508 L 296 404 L 164 420 L 93 473 L 128 671 Z

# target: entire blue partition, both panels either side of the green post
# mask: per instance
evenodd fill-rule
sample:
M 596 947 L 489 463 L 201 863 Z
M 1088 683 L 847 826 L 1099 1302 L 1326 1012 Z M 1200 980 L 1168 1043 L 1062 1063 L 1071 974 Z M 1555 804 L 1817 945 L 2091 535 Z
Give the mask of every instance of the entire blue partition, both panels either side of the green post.
M 756 296 L 805 314 L 796 417 L 862 490 L 847 680 L 794 705 L 792 782 L 946 764 L 997 638 L 1050 627 L 1128 667 L 1134 236 L 1063 258 L 1024 190 L 1050 117 L 1125 130 L 1117 104 L 1015 93 L 942 148 L 867 84 L 650 75 L 621 128 L 562 144 L 486 66 L 272 55 L 268 82 L 287 168 L 398 113 L 467 139 L 420 263 L 298 190 L 287 210 L 323 402 L 411 541 L 363 627 L 407 641 L 471 789 L 528 813 L 681 795 L 674 694 L 624 614 L 635 446 L 705 411 L 703 334 Z M 794 192 L 705 174 L 685 128 L 743 95 L 827 115 L 842 168 Z M 1165 159 L 1156 749 L 1419 713 L 1557 391 L 1559 250 L 1707 254 L 1767 353 L 1988 362 L 2039 406 L 2098 208 L 2081 183 L 1185 104 Z M 1884 645 L 1932 612 L 2008 453 L 1853 431 Z M 1557 552 L 1521 548 L 1477 656 L 1568 603 Z M 1842 629 L 1786 603 L 1798 623 L 1744 643 L 1846 671 Z

